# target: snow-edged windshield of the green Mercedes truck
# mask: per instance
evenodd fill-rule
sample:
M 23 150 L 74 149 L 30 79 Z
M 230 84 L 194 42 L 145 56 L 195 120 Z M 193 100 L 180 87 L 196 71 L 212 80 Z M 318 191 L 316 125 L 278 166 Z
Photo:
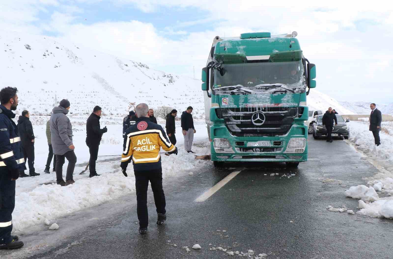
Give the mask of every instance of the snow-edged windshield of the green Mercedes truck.
M 260 62 L 222 64 L 226 72 L 221 76 L 215 70 L 214 88 L 224 91 L 226 86 L 241 85 L 255 92 L 265 92 L 281 85 L 296 92 L 305 92 L 303 63 L 292 62 Z M 223 88 L 224 87 L 224 88 Z

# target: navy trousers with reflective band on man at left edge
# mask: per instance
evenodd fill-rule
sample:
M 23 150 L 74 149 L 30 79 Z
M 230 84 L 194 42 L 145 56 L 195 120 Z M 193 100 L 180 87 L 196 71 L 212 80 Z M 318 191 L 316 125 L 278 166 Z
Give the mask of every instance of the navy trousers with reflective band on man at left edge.
M 9 172 L 0 172 L 0 244 L 12 241 L 12 212 L 15 208 L 15 182 Z

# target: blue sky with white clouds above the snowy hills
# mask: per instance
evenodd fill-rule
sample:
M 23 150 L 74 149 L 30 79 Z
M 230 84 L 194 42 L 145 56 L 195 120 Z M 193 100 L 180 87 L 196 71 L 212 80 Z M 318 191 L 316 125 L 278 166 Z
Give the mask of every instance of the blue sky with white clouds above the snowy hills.
M 391 103 L 393 7 L 377 2 L 14 0 L 2 3 L 0 26 L 190 77 L 194 67 L 200 77 L 216 35 L 298 31 L 303 53 L 316 63 L 319 91 Z

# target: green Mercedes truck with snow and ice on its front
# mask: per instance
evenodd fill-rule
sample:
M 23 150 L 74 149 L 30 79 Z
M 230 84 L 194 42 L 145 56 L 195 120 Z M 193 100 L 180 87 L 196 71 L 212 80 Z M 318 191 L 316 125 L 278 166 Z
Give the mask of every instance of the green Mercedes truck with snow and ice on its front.
M 205 115 L 216 167 L 233 161 L 307 161 L 306 96 L 316 67 L 296 32 L 216 36 L 202 69 Z

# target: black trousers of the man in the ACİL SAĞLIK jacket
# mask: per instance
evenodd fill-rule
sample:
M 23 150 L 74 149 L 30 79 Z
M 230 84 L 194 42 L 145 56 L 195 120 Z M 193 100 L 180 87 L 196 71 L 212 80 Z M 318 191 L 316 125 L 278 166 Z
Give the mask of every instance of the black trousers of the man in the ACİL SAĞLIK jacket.
M 165 194 L 162 189 L 162 168 L 150 171 L 136 171 L 135 187 L 136 187 L 136 211 L 139 219 L 139 226 L 147 228 L 149 225 L 149 215 L 147 213 L 147 187 L 149 181 L 153 191 L 154 203 L 156 204 L 157 213 L 165 214 Z

